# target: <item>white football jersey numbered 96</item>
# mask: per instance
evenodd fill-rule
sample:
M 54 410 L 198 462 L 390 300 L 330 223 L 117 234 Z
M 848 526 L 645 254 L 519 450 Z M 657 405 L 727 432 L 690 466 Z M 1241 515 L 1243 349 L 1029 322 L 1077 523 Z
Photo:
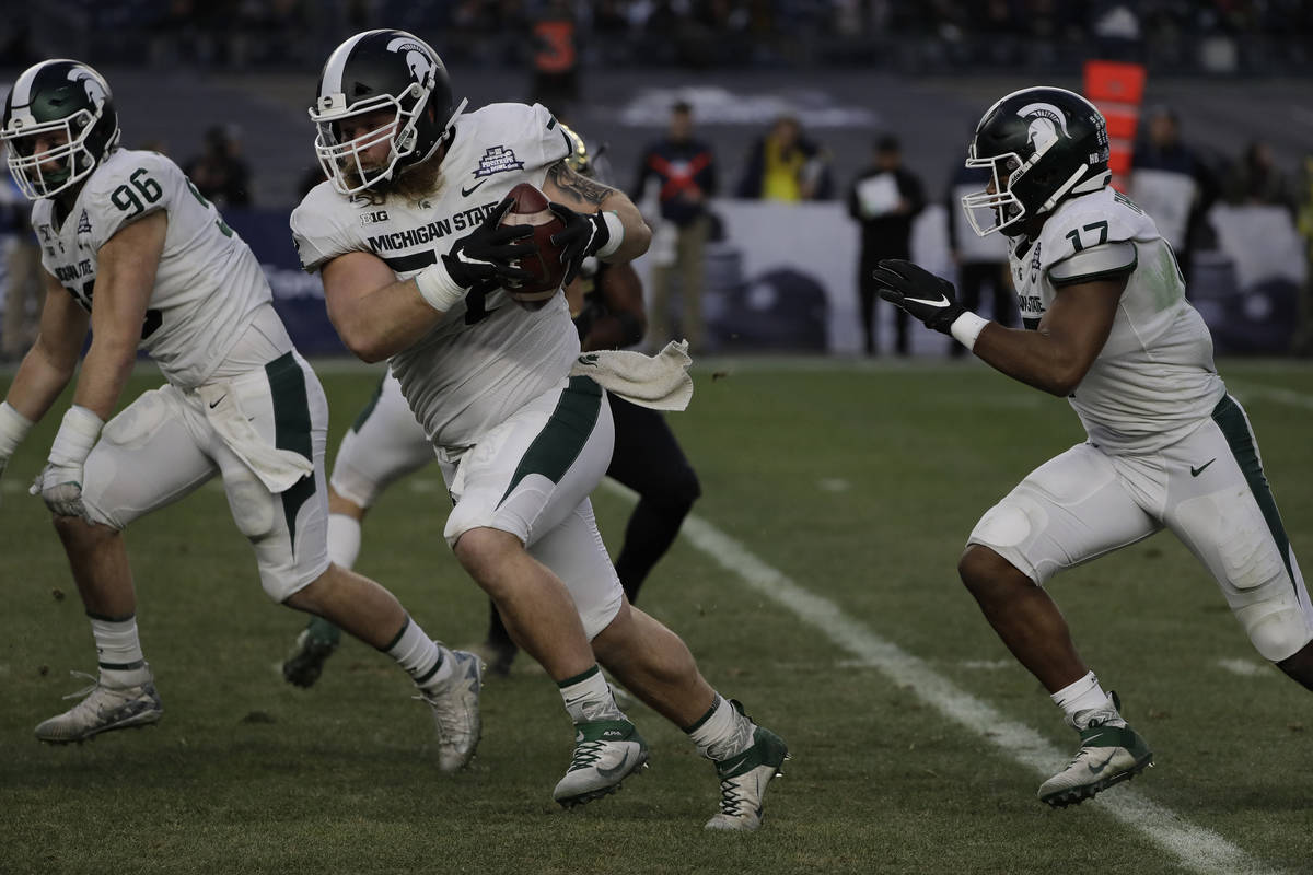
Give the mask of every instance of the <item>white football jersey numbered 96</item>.
M 88 312 L 100 248 L 130 222 L 168 213 L 140 346 L 180 388 L 204 383 L 255 312 L 272 302 L 251 248 L 158 152 L 112 152 L 87 178 L 63 224 L 56 224 L 54 206 L 46 198 L 32 211 L 41 264 Z

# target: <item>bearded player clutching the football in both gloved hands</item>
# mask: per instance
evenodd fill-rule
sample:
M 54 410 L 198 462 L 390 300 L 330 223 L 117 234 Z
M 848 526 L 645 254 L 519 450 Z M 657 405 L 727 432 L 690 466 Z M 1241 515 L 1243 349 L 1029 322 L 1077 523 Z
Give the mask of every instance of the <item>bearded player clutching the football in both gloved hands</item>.
M 784 743 L 625 600 L 588 502 L 611 459 L 605 394 L 571 375 L 579 338 L 563 296 L 528 310 L 507 291 L 525 277 L 515 258 L 534 251 L 528 228 L 500 226 L 519 182 L 538 186 L 565 223 L 566 282 L 590 256 L 641 254 L 651 232 L 628 197 L 570 169 L 569 142 L 541 105 L 462 109 L 412 34 L 370 30 L 339 46 L 310 110 L 330 180 L 291 215 L 302 265 L 320 273 L 347 346 L 390 359 L 454 505 L 448 544 L 561 689 L 575 748 L 553 798 L 597 799 L 647 761 L 601 662 L 717 763 L 708 828 L 755 829 Z

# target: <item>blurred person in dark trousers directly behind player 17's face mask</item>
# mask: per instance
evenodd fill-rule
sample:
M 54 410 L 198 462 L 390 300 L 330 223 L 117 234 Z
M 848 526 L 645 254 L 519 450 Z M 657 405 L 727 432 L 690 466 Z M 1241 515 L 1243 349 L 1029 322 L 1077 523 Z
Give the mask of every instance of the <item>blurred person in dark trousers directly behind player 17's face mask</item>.
M 981 291 L 990 287 L 994 321 L 1008 328 L 1016 321 L 1016 299 L 1007 268 L 1007 237 L 993 234 L 982 237 L 966 220 L 962 197 L 983 192 L 990 181 L 989 171 L 957 164 L 948 186 L 944 207 L 948 210 L 948 249 L 957 265 L 957 298 L 972 312 L 981 312 Z M 952 341 L 948 354 L 961 358 L 966 348 Z

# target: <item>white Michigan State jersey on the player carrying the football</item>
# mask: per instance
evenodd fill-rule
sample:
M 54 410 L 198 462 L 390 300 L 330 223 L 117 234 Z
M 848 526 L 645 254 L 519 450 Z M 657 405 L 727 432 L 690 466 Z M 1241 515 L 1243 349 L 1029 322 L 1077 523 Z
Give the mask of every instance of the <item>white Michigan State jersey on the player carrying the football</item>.
M 442 157 L 441 181 L 419 202 L 348 198 L 330 182 L 291 214 L 306 270 L 348 252 L 382 258 L 408 279 L 467 235 L 520 182 L 542 188 L 569 143 L 544 106 L 491 104 L 461 115 Z M 391 358 L 415 418 L 436 445 L 466 447 L 557 384 L 579 354 L 565 295 L 528 311 L 498 289 L 483 312 L 452 307 L 424 337 Z

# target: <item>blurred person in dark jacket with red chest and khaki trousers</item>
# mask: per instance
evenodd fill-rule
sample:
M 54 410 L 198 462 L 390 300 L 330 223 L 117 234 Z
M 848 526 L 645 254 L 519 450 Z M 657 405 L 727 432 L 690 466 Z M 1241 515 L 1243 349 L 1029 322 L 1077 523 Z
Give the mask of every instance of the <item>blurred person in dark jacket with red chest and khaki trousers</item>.
M 670 287 L 678 274 L 683 315 L 680 328 L 689 346 L 702 345 L 702 286 L 706 282 L 705 249 L 712 218 L 706 199 L 716 195 L 716 153 L 693 136 L 693 108 L 679 101 L 671 108 L 666 136 L 643 152 L 638 180 L 632 189 L 635 203 L 647 182 L 655 180 L 660 222 L 654 223 L 653 302 L 647 338 L 656 348 L 672 338 Z

